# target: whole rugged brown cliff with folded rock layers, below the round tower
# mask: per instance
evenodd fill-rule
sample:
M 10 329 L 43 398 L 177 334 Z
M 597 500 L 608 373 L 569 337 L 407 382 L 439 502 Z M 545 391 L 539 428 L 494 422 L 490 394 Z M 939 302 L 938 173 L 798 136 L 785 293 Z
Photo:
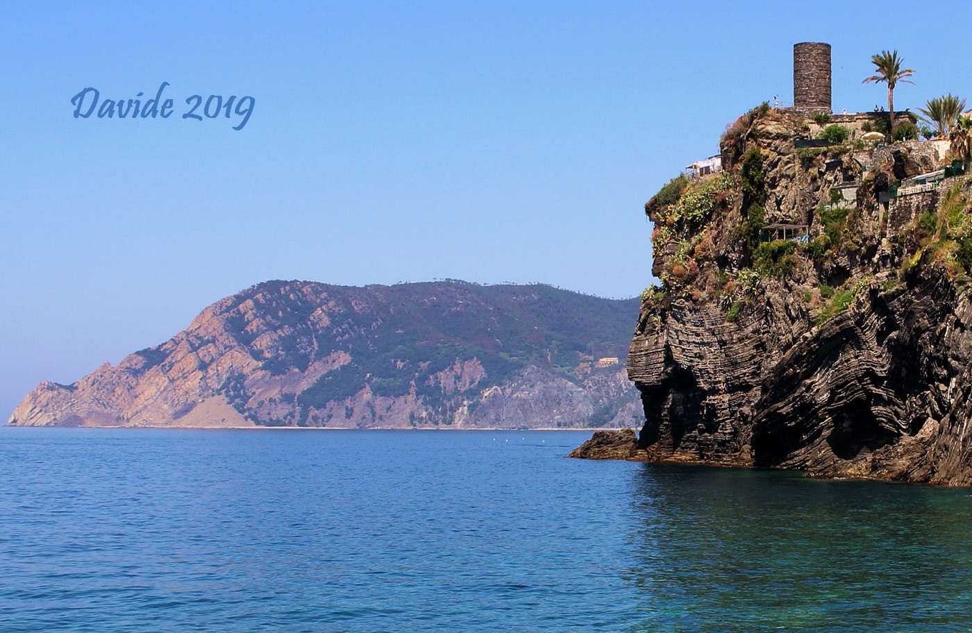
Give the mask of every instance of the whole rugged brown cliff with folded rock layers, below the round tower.
M 638 458 L 972 484 L 972 185 L 908 190 L 930 144 L 799 142 L 821 127 L 754 110 L 645 205 Z

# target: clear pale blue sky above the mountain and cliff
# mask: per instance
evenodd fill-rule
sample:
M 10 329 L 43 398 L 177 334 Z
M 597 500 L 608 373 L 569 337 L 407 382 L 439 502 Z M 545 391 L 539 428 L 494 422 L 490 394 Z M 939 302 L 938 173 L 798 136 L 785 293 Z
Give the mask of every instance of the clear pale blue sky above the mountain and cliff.
M 972 102 L 970 23 L 969 3 L 6 3 L 0 413 L 266 279 L 635 296 L 644 201 L 792 101 L 793 44 L 833 46 L 838 112 L 885 103 L 861 80 L 898 49 L 914 109 Z M 162 82 L 168 119 L 73 116 L 84 88 Z M 193 94 L 256 103 L 233 130 L 183 119 Z

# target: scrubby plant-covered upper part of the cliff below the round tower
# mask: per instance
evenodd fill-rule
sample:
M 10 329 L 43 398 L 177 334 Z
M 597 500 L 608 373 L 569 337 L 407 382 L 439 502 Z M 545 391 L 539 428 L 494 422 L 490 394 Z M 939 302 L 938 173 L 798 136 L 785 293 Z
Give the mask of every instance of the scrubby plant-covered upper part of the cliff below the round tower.
M 821 286 L 850 289 L 849 282 L 859 286 L 875 276 L 900 279 L 920 250 L 965 283 L 972 272 L 965 181 L 950 181 L 938 211 L 907 221 L 895 217 L 888 228 L 881 200 L 937 161 L 906 145 L 885 152 L 888 160 L 876 159 L 880 152 L 861 147 L 850 134 L 830 124 L 820 132 L 828 145 L 801 147 L 811 136 L 807 118 L 766 104 L 733 123 L 722 139 L 721 173 L 680 174 L 645 204 L 654 224 L 653 272 L 665 293 L 643 297 L 716 299 L 738 312 L 761 281 L 775 279 L 801 296 L 810 293 L 814 320 L 831 312 L 829 302 L 819 300 L 829 299 L 820 297 Z

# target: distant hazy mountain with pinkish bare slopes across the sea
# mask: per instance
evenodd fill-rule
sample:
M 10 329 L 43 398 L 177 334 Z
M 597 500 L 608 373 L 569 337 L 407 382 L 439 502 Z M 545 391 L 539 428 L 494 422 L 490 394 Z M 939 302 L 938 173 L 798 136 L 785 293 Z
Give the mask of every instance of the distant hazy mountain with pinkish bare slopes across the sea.
M 17 426 L 641 426 L 625 358 L 640 299 L 460 281 L 267 281 L 157 347 L 71 385 Z

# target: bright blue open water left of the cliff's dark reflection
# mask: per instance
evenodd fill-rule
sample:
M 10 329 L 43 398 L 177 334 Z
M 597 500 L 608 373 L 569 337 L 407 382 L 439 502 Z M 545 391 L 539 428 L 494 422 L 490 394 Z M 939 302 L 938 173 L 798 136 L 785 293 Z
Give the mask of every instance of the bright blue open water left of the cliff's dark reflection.
M 0 632 L 623 630 L 587 437 L 0 430 Z

